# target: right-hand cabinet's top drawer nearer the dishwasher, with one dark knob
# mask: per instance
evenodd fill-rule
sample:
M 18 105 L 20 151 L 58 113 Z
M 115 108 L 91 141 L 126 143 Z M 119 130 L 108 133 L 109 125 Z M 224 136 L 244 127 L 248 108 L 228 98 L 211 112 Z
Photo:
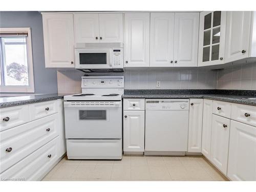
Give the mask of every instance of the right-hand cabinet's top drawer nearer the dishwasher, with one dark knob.
M 231 103 L 223 101 L 214 101 L 212 103 L 212 113 L 230 119 Z

